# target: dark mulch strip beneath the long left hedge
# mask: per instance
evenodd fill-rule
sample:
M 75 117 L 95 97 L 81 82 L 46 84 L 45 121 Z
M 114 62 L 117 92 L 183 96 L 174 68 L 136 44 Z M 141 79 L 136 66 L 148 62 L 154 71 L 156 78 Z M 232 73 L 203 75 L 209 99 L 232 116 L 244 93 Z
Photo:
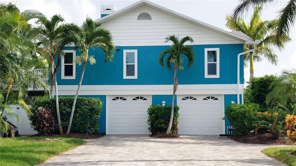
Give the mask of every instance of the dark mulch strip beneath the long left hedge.
M 78 132 L 71 132 L 69 134 L 64 134 L 64 135 L 59 135 L 56 133 L 52 133 L 52 134 L 47 134 L 47 135 L 43 135 L 43 134 L 35 134 L 32 135 L 30 137 L 35 137 L 35 136 L 46 136 L 46 137 L 65 137 L 65 138 L 78 138 L 78 139 L 92 139 L 92 138 L 100 138 L 102 136 L 104 136 L 106 134 L 104 133 L 93 133 L 93 134 L 86 134 L 86 133 L 78 133 Z

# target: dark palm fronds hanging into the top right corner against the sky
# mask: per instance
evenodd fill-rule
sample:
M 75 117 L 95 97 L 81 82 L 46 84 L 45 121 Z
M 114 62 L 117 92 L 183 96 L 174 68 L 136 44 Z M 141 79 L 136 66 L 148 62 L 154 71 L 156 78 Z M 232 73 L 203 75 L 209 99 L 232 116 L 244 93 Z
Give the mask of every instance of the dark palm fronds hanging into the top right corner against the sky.
M 241 0 L 241 3 L 236 6 L 232 13 L 232 17 L 237 19 L 242 16 L 244 12 L 249 11 L 249 9 L 254 9 L 257 5 L 278 5 L 278 0 Z M 276 28 L 273 34 L 276 36 L 274 39 L 276 43 L 281 43 L 281 36 L 288 36 L 290 28 L 294 25 L 296 20 L 296 1 L 289 0 L 286 5 L 279 10 L 276 22 Z

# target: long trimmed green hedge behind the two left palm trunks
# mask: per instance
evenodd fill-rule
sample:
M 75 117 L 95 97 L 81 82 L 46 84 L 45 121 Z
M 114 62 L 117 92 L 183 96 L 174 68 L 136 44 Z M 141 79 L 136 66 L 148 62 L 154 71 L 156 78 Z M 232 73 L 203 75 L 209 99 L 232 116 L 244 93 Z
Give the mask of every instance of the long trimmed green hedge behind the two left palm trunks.
M 74 97 L 59 97 L 59 111 L 64 131 L 67 130 L 69 124 L 73 101 Z M 99 118 L 103 109 L 102 105 L 103 102 L 99 98 L 78 97 L 72 121 L 75 130 L 79 132 L 86 131 L 88 133 L 98 132 Z M 56 124 L 58 124 L 55 98 L 35 97 L 31 105 L 33 115 L 28 115 L 31 121 L 30 124 L 34 130 L 37 131 L 35 125 L 37 120 L 36 112 L 38 112 L 40 108 L 52 109 L 54 119 Z

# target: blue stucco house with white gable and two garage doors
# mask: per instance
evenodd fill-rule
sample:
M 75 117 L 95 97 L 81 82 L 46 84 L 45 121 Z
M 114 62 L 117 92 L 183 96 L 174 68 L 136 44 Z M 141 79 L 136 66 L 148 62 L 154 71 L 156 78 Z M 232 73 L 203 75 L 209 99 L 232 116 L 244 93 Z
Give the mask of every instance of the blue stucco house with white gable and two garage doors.
M 118 11 L 113 5 L 101 8 L 101 18 L 96 21 L 112 32 L 117 52 L 112 63 L 104 64 L 100 49 L 89 50 L 97 63 L 86 67 L 79 93 L 104 102 L 99 131 L 149 134 L 149 105 L 163 101 L 170 105 L 172 100 L 173 71 L 159 66 L 157 58 L 171 45 L 164 43 L 164 38 L 174 34 L 191 36 L 194 43 L 186 44 L 192 45 L 196 54 L 192 68 L 177 73 L 179 134 L 224 134 L 229 126 L 223 119 L 226 106 L 243 103 L 243 44 L 259 42 L 242 32 L 227 32 L 146 0 Z M 75 95 L 77 90 L 82 67 L 72 62 L 79 55 L 73 48 L 65 47 L 57 75 L 60 96 Z

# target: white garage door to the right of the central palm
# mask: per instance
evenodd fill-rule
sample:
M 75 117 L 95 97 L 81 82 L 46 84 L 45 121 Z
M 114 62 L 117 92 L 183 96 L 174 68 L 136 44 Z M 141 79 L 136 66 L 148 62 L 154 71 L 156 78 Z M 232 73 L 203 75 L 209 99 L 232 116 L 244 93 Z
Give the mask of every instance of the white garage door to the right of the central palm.
M 178 95 L 179 133 L 223 134 L 223 95 Z

